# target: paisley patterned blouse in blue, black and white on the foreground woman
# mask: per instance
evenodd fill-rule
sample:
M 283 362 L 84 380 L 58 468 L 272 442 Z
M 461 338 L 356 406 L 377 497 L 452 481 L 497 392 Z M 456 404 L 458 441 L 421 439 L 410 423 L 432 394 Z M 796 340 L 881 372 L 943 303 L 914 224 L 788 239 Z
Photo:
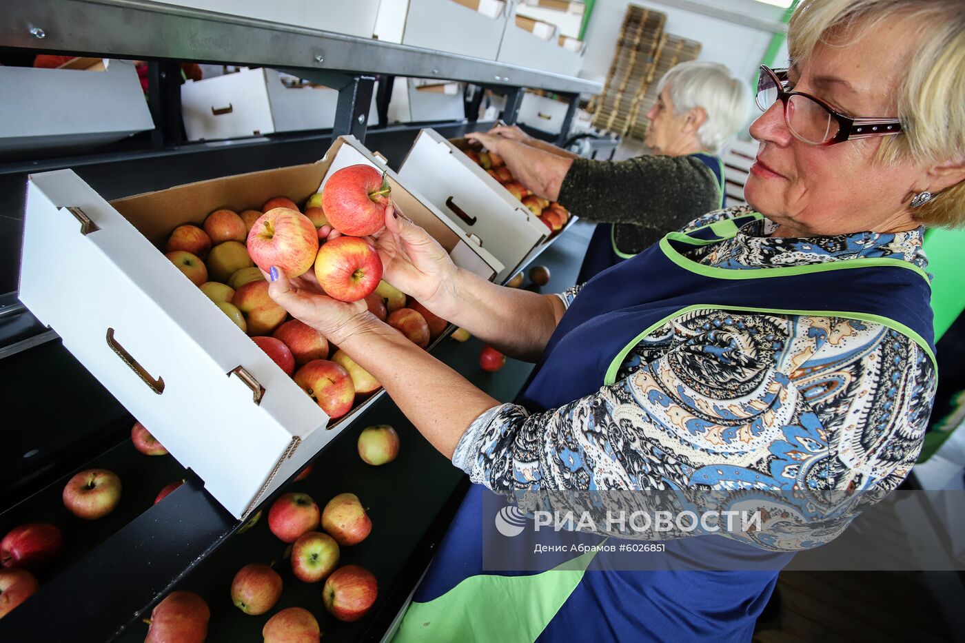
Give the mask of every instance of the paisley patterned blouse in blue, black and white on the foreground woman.
M 710 212 L 683 230 L 746 211 Z M 735 270 L 856 257 L 927 264 L 922 229 L 770 238 L 774 227 L 747 224 L 689 257 Z M 579 290 L 560 296 L 568 305 Z M 695 311 L 645 337 L 616 383 L 593 395 L 534 414 L 511 404 L 485 411 L 453 462 L 503 492 L 739 489 L 755 479 L 880 497 L 918 457 L 935 385 L 924 350 L 883 325 Z

